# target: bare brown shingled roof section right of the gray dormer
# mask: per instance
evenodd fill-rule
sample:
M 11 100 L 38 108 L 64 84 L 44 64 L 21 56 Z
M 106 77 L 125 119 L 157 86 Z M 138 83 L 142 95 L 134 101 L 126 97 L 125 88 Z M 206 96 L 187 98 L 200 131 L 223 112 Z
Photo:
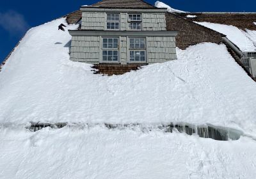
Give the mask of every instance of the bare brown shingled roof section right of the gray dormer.
M 225 36 L 173 13 L 166 13 L 166 29 L 178 31 L 176 45 L 180 49 L 186 49 L 190 45 L 202 42 L 221 43 L 222 37 Z

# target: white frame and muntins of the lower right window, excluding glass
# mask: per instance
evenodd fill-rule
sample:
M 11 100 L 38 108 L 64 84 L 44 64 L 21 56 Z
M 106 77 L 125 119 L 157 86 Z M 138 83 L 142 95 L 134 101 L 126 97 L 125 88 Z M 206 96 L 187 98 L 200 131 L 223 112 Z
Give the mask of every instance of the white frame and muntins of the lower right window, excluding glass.
M 134 48 L 131 48 L 131 39 L 134 39 Z M 135 43 L 136 39 L 140 39 L 140 41 L 142 39 L 144 40 L 144 42 L 145 42 L 144 48 L 141 48 L 141 42 L 140 42 L 140 48 L 136 48 L 136 43 Z M 128 49 L 128 51 L 127 51 L 127 56 L 128 56 L 127 63 L 147 63 L 147 38 L 145 36 L 140 36 L 140 37 L 138 37 L 138 36 L 136 36 L 136 37 L 135 36 L 129 36 L 128 37 L 128 42 L 129 42 L 129 44 L 128 44 L 128 47 L 127 47 L 127 49 Z M 132 51 L 134 51 L 134 61 L 131 61 L 131 52 Z M 145 61 L 136 61 L 135 60 L 136 51 L 145 52 Z M 141 56 L 140 56 L 140 58 L 141 58 Z

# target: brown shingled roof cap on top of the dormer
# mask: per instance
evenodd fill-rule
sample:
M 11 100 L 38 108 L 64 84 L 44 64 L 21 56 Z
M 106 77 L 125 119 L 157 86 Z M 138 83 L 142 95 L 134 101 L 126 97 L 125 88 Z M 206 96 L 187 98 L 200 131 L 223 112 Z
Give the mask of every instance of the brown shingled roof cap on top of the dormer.
M 156 8 L 142 0 L 103 0 L 92 4 L 92 6 L 102 8 Z

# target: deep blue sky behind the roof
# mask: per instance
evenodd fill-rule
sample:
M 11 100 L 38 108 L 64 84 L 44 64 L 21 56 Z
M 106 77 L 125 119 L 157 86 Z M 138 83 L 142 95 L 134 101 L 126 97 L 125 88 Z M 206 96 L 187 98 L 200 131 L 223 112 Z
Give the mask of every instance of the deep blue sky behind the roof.
M 84 0 L 10 0 L 0 1 L 0 62 L 30 27 L 56 19 L 79 6 L 97 1 Z M 148 3 L 154 4 L 149 0 Z M 173 0 L 163 3 L 188 12 L 255 12 L 255 0 Z

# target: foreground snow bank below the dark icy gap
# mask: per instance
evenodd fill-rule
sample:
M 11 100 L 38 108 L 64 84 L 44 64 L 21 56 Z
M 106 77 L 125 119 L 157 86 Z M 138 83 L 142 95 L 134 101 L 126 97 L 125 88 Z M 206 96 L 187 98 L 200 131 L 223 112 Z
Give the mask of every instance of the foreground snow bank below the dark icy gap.
M 0 178 L 254 178 L 256 143 L 159 131 L 0 130 Z

